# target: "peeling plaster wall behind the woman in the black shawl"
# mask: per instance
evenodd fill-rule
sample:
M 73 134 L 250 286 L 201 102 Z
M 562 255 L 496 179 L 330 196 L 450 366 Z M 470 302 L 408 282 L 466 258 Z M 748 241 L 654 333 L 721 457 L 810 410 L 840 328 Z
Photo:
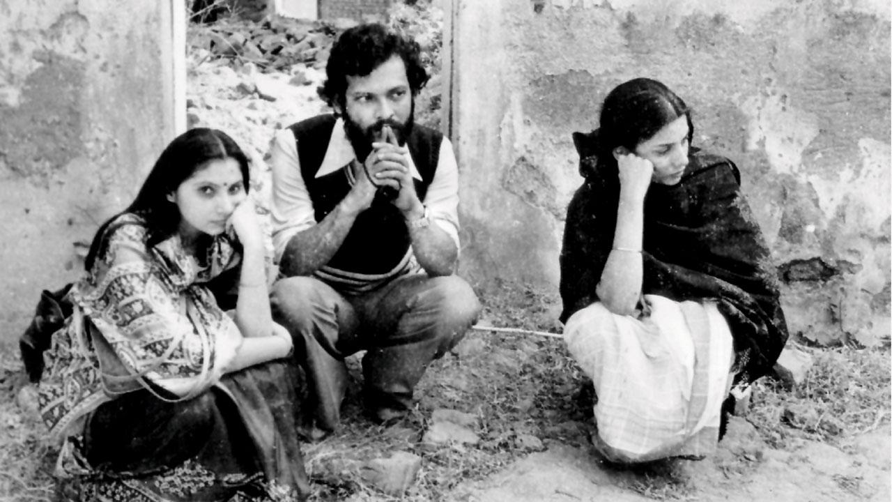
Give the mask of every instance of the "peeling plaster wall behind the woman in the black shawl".
M 555 289 L 571 134 L 626 79 L 665 82 L 738 164 L 790 330 L 889 334 L 888 0 L 453 0 L 463 272 Z

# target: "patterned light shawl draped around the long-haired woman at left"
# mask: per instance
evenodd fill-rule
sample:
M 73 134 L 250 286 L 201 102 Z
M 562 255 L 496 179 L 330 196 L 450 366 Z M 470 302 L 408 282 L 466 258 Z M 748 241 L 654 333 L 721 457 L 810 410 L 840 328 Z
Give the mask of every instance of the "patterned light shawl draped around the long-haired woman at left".
M 105 251 L 70 290 L 74 313 L 45 353 L 39 406 L 54 435 L 132 390 L 194 397 L 235 356 L 235 323 L 204 286 L 239 264 L 227 236 L 213 240 L 201 266 L 178 234 L 147 247 L 145 222 L 134 214 L 106 231 Z

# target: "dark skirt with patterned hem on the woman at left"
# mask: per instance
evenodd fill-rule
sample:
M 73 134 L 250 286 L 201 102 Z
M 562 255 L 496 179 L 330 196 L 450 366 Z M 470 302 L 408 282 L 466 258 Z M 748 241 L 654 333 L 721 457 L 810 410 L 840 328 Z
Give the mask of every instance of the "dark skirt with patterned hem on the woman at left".
M 309 494 L 291 360 L 224 376 L 188 401 L 137 390 L 87 418 L 62 500 L 285 501 Z M 156 389 L 163 394 L 163 389 Z

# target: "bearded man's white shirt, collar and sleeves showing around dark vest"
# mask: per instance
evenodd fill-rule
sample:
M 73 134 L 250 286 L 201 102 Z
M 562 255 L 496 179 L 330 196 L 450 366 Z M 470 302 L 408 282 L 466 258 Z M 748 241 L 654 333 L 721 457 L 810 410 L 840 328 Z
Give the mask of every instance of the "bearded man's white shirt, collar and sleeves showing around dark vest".
M 301 176 L 301 161 L 297 155 L 297 144 L 290 129 L 279 130 L 269 150 L 269 165 L 272 169 L 273 247 L 276 262 L 282 259 L 288 241 L 295 234 L 316 224 L 310 192 Z M 335 121 L 326 155 L 319 166 L 316 177 L 343 169 L 356 159 L 350 139 L 343 128 L 343 120 Z M 412 177 L 422 180 L 412 156 L 406 155 Z M 421 201 L 434 222 L 450 235 L 458 246 L 458 165 L 449 138 L 442 138 L 439 163 Z

